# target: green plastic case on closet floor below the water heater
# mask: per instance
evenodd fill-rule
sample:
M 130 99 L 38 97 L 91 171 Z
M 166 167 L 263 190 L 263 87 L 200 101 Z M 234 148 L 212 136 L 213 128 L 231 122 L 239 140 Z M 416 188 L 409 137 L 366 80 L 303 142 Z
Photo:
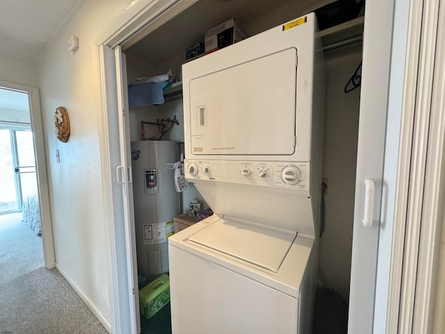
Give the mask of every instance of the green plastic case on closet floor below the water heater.
M 149 319 L 170 301 L 170 278 L 166 273 L 139 290 L 140 314 Z

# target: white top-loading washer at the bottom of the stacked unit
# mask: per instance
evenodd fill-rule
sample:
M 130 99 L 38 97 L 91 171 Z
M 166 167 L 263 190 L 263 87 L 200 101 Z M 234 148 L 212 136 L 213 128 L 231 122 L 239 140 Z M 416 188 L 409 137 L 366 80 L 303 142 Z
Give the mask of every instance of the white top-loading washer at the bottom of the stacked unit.
M 170 237 L 172 333 L 309 333 L 313 246 L 216 215 Z

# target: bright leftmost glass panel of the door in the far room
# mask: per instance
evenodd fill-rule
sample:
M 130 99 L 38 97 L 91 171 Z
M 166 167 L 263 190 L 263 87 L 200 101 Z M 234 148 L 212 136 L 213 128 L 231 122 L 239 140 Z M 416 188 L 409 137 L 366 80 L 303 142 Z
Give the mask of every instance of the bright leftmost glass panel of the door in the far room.
M 0 129 L 0 214 L 18 209 L 12 144 L 10 129 Z

